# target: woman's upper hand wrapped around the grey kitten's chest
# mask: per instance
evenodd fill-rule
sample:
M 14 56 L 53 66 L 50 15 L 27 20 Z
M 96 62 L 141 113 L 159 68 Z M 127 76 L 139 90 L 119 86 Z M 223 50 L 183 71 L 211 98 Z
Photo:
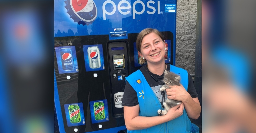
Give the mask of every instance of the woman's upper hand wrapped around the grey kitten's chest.
M 167 98 L 185 102 L 190 97 L 189 93 L 185 88 L 180 84 L 180 86 L 169 86 L 169 89 L 166 89 Z

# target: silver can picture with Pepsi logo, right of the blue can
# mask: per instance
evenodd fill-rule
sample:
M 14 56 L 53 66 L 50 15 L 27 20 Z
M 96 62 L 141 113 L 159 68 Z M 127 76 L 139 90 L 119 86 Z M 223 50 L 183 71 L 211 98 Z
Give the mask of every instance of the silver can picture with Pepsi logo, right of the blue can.
M 88 47 L 88 59 L 89 59 L 89 65 L 90 68 L 100 68 L 101 63 L 100 63 L 100 50 L 98 46 L 91 46 Z

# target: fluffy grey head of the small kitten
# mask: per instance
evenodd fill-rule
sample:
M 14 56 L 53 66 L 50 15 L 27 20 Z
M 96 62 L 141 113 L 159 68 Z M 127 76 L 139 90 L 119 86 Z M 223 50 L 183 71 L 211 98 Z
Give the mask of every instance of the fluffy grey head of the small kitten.
M 163 81 L 166 86 L 179 86 L 181 77 L 175 73 L 165 71 L 163 75 Z

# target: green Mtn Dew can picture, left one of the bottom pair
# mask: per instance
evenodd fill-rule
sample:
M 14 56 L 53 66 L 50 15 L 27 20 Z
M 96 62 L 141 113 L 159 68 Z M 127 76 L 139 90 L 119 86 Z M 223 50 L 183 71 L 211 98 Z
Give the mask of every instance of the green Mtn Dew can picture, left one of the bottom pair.
M 69 105 L 69 117 L 71 123 L 81 122 L 80 107 L 78 104 Z

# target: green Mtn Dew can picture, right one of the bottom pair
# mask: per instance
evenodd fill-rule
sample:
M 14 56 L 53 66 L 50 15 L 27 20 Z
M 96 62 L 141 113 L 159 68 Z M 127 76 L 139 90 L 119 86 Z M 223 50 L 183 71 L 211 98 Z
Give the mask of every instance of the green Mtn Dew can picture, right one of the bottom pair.
M 94 102 L 94 115 L 95 120 L 105 119 L 104 103 L 102 101 Z

